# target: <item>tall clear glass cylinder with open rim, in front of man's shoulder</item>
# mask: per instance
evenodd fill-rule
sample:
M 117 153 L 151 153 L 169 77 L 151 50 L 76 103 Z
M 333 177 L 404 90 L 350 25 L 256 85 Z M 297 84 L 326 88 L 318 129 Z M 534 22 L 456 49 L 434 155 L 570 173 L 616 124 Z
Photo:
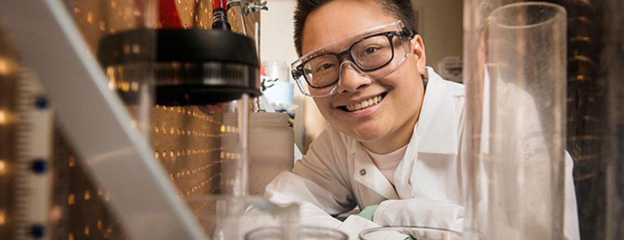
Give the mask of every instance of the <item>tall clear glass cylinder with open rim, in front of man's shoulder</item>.
M 467 1 L 467 239 L 563 239 L 566 11 Z

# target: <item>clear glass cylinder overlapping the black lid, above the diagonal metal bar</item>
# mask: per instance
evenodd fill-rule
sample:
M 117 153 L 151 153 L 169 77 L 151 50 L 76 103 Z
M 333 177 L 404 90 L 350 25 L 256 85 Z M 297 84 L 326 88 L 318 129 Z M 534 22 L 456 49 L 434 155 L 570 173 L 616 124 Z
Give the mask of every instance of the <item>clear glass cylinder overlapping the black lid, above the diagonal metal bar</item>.
M 97 55 L 132 117 L 131 126 L 151 137 L 154 106 L 155 35 L 142 29 L 157 23 L 155 0 L 64 1 L 84 41 Z

